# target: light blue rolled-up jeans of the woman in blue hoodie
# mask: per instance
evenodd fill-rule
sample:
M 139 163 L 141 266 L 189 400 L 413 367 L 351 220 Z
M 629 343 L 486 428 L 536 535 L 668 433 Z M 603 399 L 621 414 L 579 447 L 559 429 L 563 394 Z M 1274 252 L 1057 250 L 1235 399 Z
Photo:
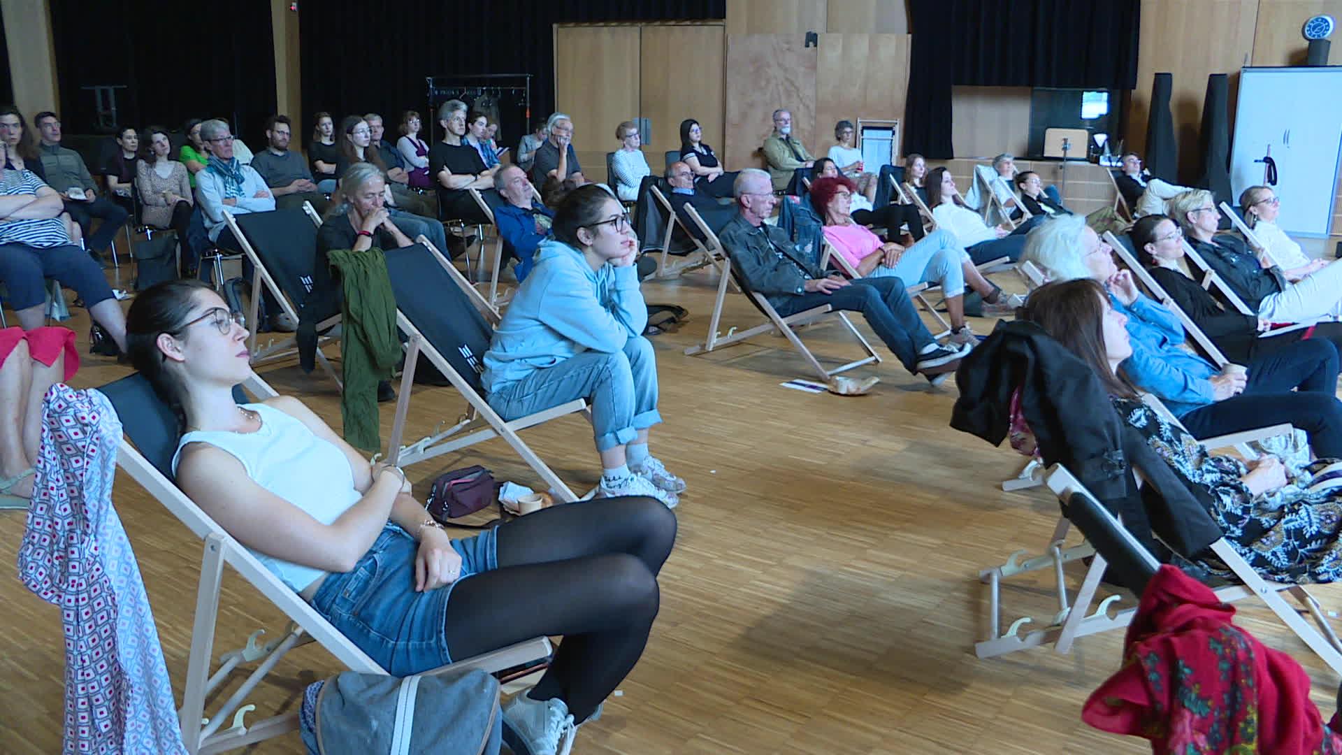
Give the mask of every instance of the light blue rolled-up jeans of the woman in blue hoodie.
M 615 353 L 585 351 L 554 367 L 533 369 L 498 387 L 488 402 L 505 420 L 572 402 L 592 404 L 596 450 L 623 446 L 662 422 L 658 412 L 658 363 L 652 343 L 636 336 Z

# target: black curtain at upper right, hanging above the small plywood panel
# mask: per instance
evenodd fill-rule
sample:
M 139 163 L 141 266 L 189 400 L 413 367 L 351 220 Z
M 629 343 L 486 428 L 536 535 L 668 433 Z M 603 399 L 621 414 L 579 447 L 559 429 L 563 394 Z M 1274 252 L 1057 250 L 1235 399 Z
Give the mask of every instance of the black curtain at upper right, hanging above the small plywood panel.
M 1137 86 L 1141 3 L 1135 0 L 909 0 L 909 9 L 906 154 L 954 157 L 954 85 Z

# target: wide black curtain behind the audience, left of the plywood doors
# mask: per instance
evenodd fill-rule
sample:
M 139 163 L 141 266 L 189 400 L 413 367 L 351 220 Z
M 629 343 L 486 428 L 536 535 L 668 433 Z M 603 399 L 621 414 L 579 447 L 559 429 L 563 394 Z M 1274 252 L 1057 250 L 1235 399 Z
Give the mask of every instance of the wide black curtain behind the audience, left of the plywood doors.
M 403 0 L 385 7 L 322 0 L 303 3 L 299 16 L 303 113 L 331 113 L 337 125 L 348 114 L 381 113 L 386 138 L 395 141 L 404 110 L 419 110 L 423 133 L 429 132 L 433 114 L 424 112 L 424 77 L 533 74 L 531 117 L 548 116 L 554 110 L 553 24 L 725 19 L 726 0 L 491 0 L 468 5 Z M 686 59 L 695 54 L 682 52 Z M 604 134 L 607 126 L 615 128 L 578 128 L 589 134 L 600 128 Z M 501 128 L 499 144 L 515 148 L 525 126 L 503 122 Z M 313 124 L 294 125 L 303 145 L 311 132 Z

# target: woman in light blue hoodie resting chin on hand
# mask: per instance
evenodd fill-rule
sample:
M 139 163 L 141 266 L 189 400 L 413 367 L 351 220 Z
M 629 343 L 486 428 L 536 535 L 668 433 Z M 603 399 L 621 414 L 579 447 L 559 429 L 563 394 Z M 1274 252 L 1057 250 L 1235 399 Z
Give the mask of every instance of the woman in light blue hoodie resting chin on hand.
M 482 382 L 506 420 L 588 399 L 601 496 L 651 496 L 675 506 L 684 481 L 648 453 L 658 369 L 643 337 L 648 309 L 633 261 L 639 239 L 620 203 L 592 184 L 569 192 L 554 238 L 518 287 L 484 353 Z

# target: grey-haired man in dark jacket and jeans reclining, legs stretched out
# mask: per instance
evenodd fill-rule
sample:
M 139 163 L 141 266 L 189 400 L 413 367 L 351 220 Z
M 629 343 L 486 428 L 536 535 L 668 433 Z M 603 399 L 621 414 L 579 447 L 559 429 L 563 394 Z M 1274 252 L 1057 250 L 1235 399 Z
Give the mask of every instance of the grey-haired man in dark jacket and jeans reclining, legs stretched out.
M 741 171 L 733 193 L 739 212 L 718 238 L 747 294 L 762 294 L 782 317 L 824 305 L 860 312 L 899 363 L 933 384 L 939 384 L 960 367 L 969 347 L 942 348 L 918 317 L 899 278 L 847 281 L 829 277 L 816 266 L 813 255 L 792 243 L 786 232 L 764 222 L 777 202 L 769 173 L 757 168 Z

